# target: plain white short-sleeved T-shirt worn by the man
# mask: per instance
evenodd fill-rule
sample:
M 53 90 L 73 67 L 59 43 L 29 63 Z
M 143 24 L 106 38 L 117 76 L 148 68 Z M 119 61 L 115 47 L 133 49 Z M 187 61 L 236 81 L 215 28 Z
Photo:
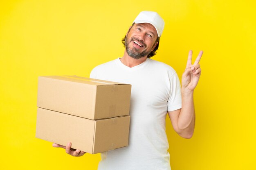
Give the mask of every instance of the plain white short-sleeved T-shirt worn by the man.
M 165 120 L 167 111 L 181 108 L 175 70 L 149 58 L 129 68 L 118 58 L 90 77 L 132 85 L 128 146 L 101 153 L 98 170 L 171 170 Z

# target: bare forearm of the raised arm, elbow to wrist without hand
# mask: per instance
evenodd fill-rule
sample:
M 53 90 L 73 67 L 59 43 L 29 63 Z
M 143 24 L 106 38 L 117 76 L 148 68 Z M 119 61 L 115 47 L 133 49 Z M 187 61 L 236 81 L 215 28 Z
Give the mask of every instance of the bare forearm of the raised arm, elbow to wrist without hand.
M 178 128 L 186 135 L 193 135 L 195 128 L 193 91 L 182 89 L 182 109 L 178 118 Z

